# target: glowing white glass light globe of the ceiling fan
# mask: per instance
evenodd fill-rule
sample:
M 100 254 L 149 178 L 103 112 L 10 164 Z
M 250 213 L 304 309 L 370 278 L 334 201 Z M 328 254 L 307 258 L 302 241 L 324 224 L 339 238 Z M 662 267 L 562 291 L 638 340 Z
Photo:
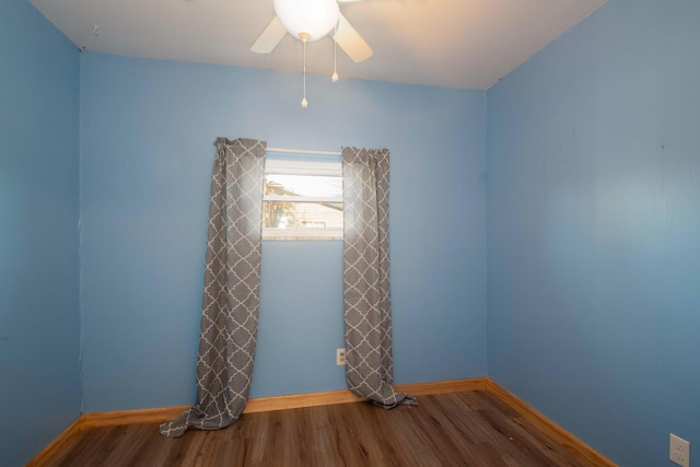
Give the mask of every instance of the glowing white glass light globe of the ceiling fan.
M 306 33 L 307 40 L 325 37 L 340 14 L 336 0 L 275 0 L 275 12 L 292 36 Z

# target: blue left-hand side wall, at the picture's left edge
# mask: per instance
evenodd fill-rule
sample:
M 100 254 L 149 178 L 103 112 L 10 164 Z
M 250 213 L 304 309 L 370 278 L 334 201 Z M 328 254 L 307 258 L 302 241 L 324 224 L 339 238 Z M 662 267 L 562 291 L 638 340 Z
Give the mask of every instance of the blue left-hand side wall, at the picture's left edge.
M 79 51 L 24 0 L 0 2 L 0 465 L 80 413 Z

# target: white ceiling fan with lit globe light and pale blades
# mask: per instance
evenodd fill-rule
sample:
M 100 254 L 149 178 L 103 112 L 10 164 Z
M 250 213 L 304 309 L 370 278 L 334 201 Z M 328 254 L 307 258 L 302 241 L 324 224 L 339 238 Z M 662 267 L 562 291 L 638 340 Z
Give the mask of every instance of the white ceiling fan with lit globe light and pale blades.
M 357 0 L 338 0 L 351 2 Z M 354 61 L 372 57 L 372 48 L 340 13 L 336 0 L 275 0 L 275 13 L 270 24 L 257 38 L 250 50 L 269 54 L 290 33 L 306 42 L 318 40 L 332 32 L 332 38 Z

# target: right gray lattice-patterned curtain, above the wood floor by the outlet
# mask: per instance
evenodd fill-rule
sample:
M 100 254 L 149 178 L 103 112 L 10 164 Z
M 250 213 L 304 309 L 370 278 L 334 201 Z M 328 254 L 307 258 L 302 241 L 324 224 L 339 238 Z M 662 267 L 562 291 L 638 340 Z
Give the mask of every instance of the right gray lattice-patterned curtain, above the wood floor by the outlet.
M 389 151 L 343 148 L 342 197 L 348 387 L 387 409 L 416 405 L 392 387 Z

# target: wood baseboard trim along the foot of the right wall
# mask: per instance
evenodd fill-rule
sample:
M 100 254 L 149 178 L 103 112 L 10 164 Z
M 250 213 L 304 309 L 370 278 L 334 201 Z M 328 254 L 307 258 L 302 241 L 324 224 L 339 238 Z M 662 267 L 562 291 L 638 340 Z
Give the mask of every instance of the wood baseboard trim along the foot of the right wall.
M 502 402 L 522 415 L 527 421 L 533 423 L 542 433 L 548 434 L 557 443 L 575 454 L 579 458 L 594 466 L 617 467 L 617 464 L 606 458 L 604 455 L 579 440 L 573 434 L 555 423 L 551 419 L 529 406 L 527 402 L 505 389 L 500 384 L 490 378 L 486 378 L 486 390 L 491 393 Z

